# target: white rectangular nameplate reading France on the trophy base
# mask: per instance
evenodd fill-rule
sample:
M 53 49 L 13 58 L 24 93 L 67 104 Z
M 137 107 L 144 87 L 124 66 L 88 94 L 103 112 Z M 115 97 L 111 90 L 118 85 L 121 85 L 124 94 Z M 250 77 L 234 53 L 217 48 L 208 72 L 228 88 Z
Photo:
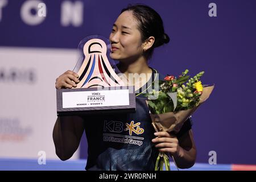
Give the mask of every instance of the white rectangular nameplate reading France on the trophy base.
M 129 105 L 129 89 L 63 92 L 63 108 Z

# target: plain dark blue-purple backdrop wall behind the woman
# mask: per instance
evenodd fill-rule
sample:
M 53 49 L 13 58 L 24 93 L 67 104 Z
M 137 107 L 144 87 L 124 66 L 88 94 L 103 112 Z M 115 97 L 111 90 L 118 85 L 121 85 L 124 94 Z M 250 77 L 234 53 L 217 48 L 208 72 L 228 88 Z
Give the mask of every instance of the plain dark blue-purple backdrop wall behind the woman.
M 43 1 L 46 19 L 30 26 L 20 16 L 24 2 L 9 0 L 2 8 L 0 46 L 77 48 L 88 35 L 108 38 L 127 4 L 153 7 L 162 16 L 171 42 L 155 49 L 151 67 L 171 75 L 186 68 L 191 75 L 205 71 L 202 82 L 216 85 L 209 100 L 192 116 L 197 162 L 208 163 L 209 151 L 216 151 L 217 163 L 256 164 L 256 1 L 84 0 L 79 27 L 61 25 L 63 1 L 59 0 Z M 217 5 L 217 17 L 208 15 L 212 2 Z M 31 10 L 31 14 L 35 12 Z M 84 141 L 82 157 L 86 157 Z

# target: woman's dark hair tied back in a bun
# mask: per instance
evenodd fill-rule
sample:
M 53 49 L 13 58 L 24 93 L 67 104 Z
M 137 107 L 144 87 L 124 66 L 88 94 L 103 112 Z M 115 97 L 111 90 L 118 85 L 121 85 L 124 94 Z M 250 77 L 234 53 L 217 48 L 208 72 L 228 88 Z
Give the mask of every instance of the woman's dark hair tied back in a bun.
M 162 46 L 170 42 L 169 36 L 164 33 L 163 20 L 161 16 L 151 7 L 141 4 L 128 5 L 123 11 L 133 11 L 133 15 L 138 20 L 138 28 L 141 31 L 142 42 L 150 36 L 154 36 L 155 42 L 144 55 L 150 59 L 155 47 Z

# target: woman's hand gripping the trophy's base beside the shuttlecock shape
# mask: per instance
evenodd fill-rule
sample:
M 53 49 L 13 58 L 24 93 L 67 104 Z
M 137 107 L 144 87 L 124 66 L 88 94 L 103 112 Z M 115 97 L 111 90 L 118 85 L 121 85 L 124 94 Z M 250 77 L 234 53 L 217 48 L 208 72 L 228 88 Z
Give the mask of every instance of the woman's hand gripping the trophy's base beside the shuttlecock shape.
M 72 87 L 76 87 L 76 84 L 80 82 L 78 78 L 79 78 L 79 75 L 77 75 L 75 72 L 68 70 L 67 72 L 63 73 L 61 76 L 59 76 L 56 79 L 55 88 L 71 89 Z

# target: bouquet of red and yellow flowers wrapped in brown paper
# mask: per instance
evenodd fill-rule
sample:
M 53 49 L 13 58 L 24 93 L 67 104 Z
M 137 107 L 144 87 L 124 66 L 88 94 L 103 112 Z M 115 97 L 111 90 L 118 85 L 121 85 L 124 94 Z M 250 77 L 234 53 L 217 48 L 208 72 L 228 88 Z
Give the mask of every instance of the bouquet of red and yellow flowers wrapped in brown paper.
M 163 81 L 159 81 L 159 90 L 144 94 L 148 98 L 150 117 L 156 132 L 168 131 L 177 134 L 183 123 L 212 93 L 214 85 L 201 84 L 200 77 L 204 72 L 190 79 L 187 73 L 188 69 L 178 78 L 167 75 Z M 170 170 L 168 155 L 159 152 L 155 170 L 163 170 L 163 166 Z

